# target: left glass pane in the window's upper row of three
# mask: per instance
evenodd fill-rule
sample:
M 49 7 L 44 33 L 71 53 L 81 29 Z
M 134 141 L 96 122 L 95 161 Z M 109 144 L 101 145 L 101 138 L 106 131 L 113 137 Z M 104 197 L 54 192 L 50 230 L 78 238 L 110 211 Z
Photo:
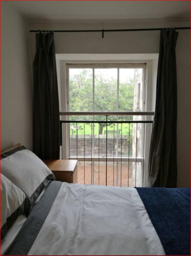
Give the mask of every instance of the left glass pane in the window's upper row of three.
M 93 70 L 69 69 L 70 111 L 93 111 Z

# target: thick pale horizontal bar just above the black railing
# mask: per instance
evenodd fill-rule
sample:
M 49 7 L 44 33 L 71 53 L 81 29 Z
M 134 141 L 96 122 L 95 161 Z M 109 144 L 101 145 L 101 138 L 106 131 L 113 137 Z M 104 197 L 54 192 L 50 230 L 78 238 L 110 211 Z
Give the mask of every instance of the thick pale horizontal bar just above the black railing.
M 60 111 L 60 116 L 154 116 L 154 111 Z

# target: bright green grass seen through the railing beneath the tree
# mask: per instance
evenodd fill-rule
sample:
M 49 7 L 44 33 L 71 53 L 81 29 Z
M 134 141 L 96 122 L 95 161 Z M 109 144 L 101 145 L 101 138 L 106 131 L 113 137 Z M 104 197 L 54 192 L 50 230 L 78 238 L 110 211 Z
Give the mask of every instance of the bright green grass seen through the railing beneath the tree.
M 94 134 L 98 135 L 99 132 L 99 124 L 85 124 L 85 134 L 91 135 L 93 134 L 93 125 L 94 125 Z M 129 134 L 129 128 L 130 128 L 130 134 L 132 133 L 132 124 L 122 124 L 122 135 L 128 135 Z M 115 124 L 115 128 L 112 125 L 107 125 L 107 131 L 111 131 L 113 134 L 113 130 L 117 130 L 117 124 Z M 106 131 L 106 127 L 103 128 L 102 134 L 104 134 L 104 131 Z M 121 124 L 118 124 L 118 131 L 121 135 Z M 76 135 L 76 123 L 70 124 L 70 134 Z M 84 134 L 84 124 L 78 124 L 78 135 Z

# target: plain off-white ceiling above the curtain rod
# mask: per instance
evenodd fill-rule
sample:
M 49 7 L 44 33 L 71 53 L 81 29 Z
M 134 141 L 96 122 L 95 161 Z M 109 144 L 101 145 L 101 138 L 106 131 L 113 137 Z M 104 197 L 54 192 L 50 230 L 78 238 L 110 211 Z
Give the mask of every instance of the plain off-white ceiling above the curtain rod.
M 177 19 L 190 16 L 190 1 L 7 1 L 6 4 L 14 6 L 29 20 Z

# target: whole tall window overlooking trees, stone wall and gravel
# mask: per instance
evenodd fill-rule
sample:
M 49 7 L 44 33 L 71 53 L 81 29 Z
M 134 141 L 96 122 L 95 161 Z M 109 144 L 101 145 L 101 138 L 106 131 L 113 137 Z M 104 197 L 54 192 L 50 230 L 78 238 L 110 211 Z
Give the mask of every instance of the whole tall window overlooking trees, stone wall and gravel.
M 144 111 L 144 78 L 146 74 L 146 64 L 67 64 L 67 111 Z M 104 121 L 105 116 L 70 116 L 70 120 L 95 120 Z M 142 116 L 108 116 L 109 121 L 131 121 L 142 120 Z M 108 172 L 114 173 L 114 180 L 108 181 L 107 185 L 119 185 L 120 175 L 118 171 L 125 170 L 128 166 L 131 180 L 128 179 L 129 186 L 134 186 L 133 170 L 138 172 L 141 161 L 125 161 L 130 158 L 143 158 L 142 133 L 143 126 L 139 124 L 111 124 L 106 127 L 105 123 L 100 124 L 80 124 L 71 123 L 69 128 L 69 157 L 71 159 L 78 155 L 79 160 L 79 183 L 90 183 L 90 173 L 93 174 L 93 183 L 105 184 L 105 162 L 98 162 L 98 157 L 106 155 L 106 129 L 107 129 L 107 157 L 114 158 L 114 162 L 108 160 Z M 114 141 L 114 142 L 113 142 Z M 129 143 L 128 149 L 125 149 L 126 143 Z M 124 161 L 119 159 L 123 157 Z M 82 161 L 80 161 L 82 158 Z M 86 158 L 86 163 L 83 162 Z M 91 160 L 91 161 L 88 161 Z M 86 165 L 86 166 L 85 166 Z M 99 166 L 98 166 L 99 165 Z M 130 166 L 129 166 L 130 165 Z M 111 166 L 111 168 L 109 168 Z M 102 178 L 98 181 L 99 174 Z M 86 169 L 86 171 L 85 171 Z M 93 172 L 92 172 L 93 169 Z M 81 174 L 82 173 L 82 182 Z M 125 172 L 123 172 L 124 175 Z M 113 174 L 112 174 L 113 175 Z M 141 178 L 141 174 L 140 174 Z M 121 176 L 123 179 L 123 175 Z M 126 177 L 124 176 L 124 179 Z M 122 186 L 127 186 L 122 180 Z M 140 181 L 141 182 L 141 181 Z

